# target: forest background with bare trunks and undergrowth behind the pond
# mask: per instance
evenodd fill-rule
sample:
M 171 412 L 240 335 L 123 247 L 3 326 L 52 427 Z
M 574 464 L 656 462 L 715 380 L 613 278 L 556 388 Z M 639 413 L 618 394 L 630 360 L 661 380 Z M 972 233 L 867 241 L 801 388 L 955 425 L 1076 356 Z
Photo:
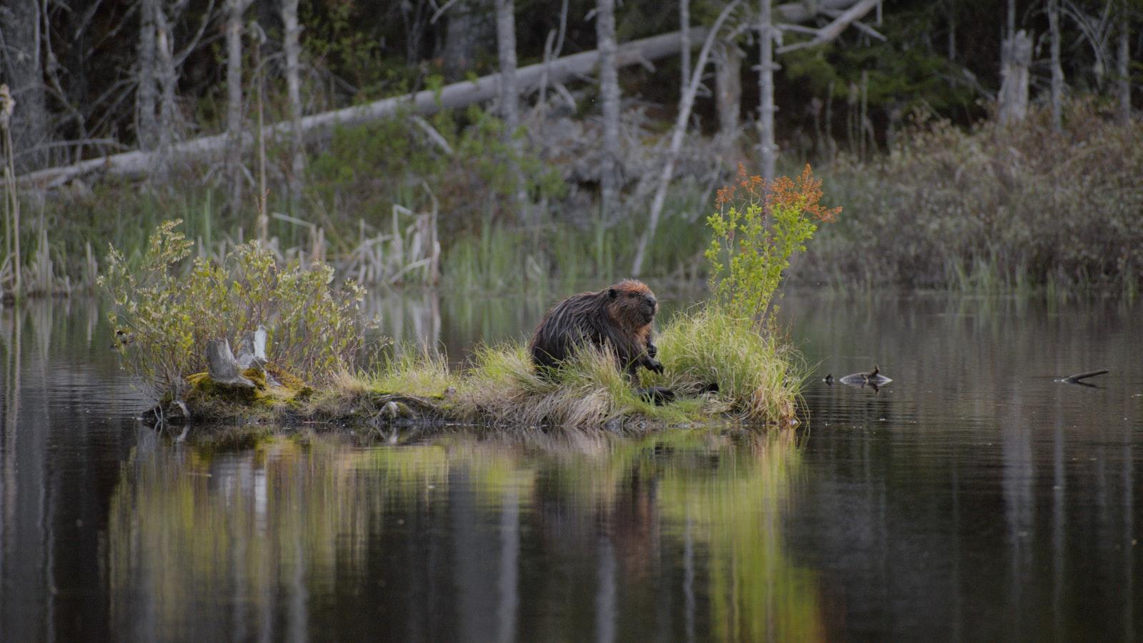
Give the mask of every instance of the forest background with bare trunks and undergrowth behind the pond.
M 845 209 L 798 283 L 1134 297 L 1141 23 L 1138 0 L 9 0 L 0 287 L 90 287 L 170 219 L 199 255 L 259 238 L 367 286 L 697 281 L 740 164 L 810 162 Z

